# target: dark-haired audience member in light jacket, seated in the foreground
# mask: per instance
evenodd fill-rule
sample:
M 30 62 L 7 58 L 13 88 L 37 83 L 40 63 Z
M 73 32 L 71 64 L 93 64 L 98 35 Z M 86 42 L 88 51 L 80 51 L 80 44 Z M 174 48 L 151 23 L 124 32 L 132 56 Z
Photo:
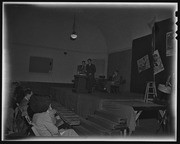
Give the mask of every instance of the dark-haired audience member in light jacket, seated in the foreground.
M 47 99 L 46 102 L 43 102 L 41 111 L 43 112 L 35 113 L 32 119 L 40 136 L 78 136 L 73 129 L 58 130 L 58 126 L 62 125 L 63 122 L 56 125 L 56 110 L 52 109 L 50 100 Z

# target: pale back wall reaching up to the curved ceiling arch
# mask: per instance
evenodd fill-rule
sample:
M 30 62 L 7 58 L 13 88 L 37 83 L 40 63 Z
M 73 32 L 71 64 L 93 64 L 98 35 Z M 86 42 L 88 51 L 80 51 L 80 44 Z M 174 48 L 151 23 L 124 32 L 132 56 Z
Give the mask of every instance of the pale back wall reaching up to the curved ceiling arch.
M 77 19 L 78 38 L 72 41 L 70 33 L 73 15 L 66 17 L 54 11 L 13 9 L 8 11 L 9 47 L 5 47 L 8 49 L 12 81 L 71 83 L 77 72 L 77 65 L 88 58 L 104 59 L 106 75 L 107 46 L 96 26 Z M 30 56 L 53 58 L 52 72 L 30 73 Z

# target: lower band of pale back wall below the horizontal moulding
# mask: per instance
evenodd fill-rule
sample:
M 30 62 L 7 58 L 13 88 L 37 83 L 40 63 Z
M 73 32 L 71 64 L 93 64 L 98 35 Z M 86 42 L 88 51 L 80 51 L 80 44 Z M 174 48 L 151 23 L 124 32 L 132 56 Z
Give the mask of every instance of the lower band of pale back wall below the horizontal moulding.
M 29 60 L 30 56 L 53 58 L 53 69 L 51 73 L 30 73 Z M 57 82 L 71 83 L 74 74 L 77 73 L 77 65 L 82 60 L 88 58 L 104 59 L 107 63 L 107 55 L 103 53 L 78 53 L 58 49 L 38 48 L 23 45 L 11 45 L 10 71 L 12 81 L 38 81 L 38 82 Z M 106 70 L 104 70 L 106 74 Z

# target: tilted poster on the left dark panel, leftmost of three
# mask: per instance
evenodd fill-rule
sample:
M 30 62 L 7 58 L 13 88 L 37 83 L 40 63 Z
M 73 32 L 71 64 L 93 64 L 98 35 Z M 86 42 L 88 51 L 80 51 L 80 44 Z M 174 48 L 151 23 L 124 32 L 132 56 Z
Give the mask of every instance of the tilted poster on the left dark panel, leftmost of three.
M 150 68 L 148 55 L 145 55 L 141 59 L 137 60 L 137 65 L 138 65 L 139 73 L 146 70 L 146 69 L 148 69 L 148 68 Z

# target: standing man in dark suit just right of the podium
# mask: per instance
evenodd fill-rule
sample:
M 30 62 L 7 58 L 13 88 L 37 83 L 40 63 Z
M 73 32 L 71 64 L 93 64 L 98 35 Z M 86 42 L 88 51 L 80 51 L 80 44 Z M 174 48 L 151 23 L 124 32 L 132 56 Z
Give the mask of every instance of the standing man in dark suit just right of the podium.
M 87 89 L 88 93 L 92 93 L 92 89 L 95 83 L 94 74 L 96 72 L 96 67 L 92 64 L 92 60 L 88 59 L 88 64 L 86 65 L 86 73 L 87 73 Z

